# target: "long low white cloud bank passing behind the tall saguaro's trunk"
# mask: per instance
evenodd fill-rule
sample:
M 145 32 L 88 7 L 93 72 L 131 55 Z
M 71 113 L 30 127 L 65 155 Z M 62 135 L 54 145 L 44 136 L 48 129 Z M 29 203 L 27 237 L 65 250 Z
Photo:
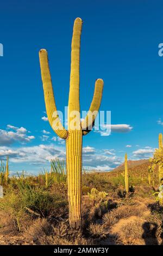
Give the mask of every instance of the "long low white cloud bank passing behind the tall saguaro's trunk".
M 113 151 L 111 151 L 113 152 Z M 110 152 L 110 153 L 111 153 Z M 98 171 L 109 171 L 123 162 L 123 159 L 116 155 L 107 154 L 108 150 L 98 150 L 91 146 L 83 148 L 83 166 L 85 169 Z M 9 146 L 0 146 L 0 160 L 10 157 L 11 163 L 25 163 L 32 168 L 34 166 L 46 166 L 54 158 L 66 159 L 65 147 L 62 145 L 38 145 L 22 146 L 11 148 Z

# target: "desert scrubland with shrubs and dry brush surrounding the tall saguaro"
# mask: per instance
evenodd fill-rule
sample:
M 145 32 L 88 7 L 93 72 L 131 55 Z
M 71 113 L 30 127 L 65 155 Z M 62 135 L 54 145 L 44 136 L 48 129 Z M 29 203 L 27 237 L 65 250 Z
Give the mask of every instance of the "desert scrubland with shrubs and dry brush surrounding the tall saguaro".
M 50 171 L 43 170 L 37 176 L 22 172 L 8 179 L 7 164 L 1 164 L 2 245 L 162 245 L 163 207 L 155 195 L 159 193 L 159 168 L 149 184 L 151 162 L 137 161 L 128 168 L 128 192 L 127 162 L 121 170 L 83 170 L 83 228 L 79 230 L 71 228 L 68 221 L 64 161 L 52 160 Z

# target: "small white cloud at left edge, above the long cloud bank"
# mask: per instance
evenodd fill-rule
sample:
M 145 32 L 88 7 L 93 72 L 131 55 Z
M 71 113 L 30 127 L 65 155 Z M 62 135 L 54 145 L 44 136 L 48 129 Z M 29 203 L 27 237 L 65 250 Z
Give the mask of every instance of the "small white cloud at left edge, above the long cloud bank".
M 14 142 L 21 142 L 26 143 L 33 139 L 35 139 L 34 136 L 28 136 L 28 130 L 24 127 L 15 127 L 11 126 L 11 124 L 8 124 L 7 126 L 8 130 L 2 130 L 0 129 L 0 144 L 1 145 L 11 145 Z

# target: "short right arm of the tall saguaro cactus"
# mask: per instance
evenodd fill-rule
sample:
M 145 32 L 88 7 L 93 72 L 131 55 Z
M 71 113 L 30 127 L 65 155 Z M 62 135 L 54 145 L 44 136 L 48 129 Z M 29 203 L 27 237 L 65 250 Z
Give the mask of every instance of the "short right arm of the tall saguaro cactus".
M 85 119 L 82 121 L 83 135 L 86 135 L 93 128 L 95 118 L 97 116 L 99 107 L 101 105 L 102 93 L 103 93 L 104 82 L 102 79 L 97 79 L 95 83 L 95 91 L 93 94 L 92 103 Z

